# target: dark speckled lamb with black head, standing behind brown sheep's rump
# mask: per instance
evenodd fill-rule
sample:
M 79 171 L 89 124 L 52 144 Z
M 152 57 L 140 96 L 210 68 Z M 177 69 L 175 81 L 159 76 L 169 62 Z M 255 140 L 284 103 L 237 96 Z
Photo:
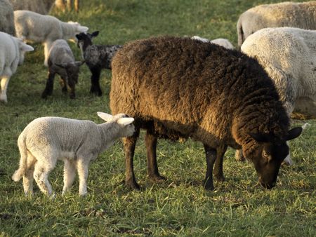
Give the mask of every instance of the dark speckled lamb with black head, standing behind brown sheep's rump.
M 99 32 L 80 33 L 76 34 L 77 46 L 81 50 L 81 55 L 84 58 L 86 65 L 91 72 L 91 89 L 90 93 L 98 96 L 102 95 L 100 88 L 100 73 L 101 70 L 111 69 L 112 57 L 121 48 L 119 45 L 93 45 L 92 39 L 98 36 Z

